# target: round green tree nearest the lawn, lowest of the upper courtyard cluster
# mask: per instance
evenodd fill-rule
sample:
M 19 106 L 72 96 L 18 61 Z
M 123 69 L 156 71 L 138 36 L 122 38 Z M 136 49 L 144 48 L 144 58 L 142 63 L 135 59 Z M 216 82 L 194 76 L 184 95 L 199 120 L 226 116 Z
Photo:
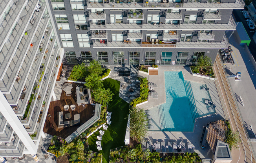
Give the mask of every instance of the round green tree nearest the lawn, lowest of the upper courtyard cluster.
M 99 87 L 93 92 L 94 101 L 101 103 L 103 107 L 112 101 L 113 95 L 109 88 L 104 87 Z

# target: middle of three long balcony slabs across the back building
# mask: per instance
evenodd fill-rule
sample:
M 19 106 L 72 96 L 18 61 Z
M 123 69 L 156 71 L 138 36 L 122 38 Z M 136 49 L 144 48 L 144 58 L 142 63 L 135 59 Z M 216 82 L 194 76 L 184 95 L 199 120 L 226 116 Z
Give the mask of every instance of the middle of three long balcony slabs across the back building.
M 122 24 L 122 23 L 115 23 L 115 24 L 106 24 L 106 25 L 97 25 L 91 24 L 91 30 L 236 30 L 236 23 L 232 16 L 229 19 L 228 24 Z

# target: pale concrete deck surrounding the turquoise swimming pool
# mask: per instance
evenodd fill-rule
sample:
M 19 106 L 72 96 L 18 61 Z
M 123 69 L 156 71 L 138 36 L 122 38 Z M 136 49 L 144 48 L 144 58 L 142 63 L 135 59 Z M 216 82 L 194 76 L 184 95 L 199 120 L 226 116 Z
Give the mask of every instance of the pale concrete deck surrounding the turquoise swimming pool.
M 209 92 L 210 92 L 212 102 L 216 105 L 216 113 L 197 118 L 194 124 L 193 132 L 160 131 L 160 127 L 157 126 L 157 124 L 154 122 L 154 118 L 158 117 L 157 109 L 155 109 L 156 106 L 166 102 L 165 71 L 182 71 L 184 80 L 206 84 L 207 87 L 210 89 Z M 139 73 L 139 76 L 140 75 L 142 74 Z M 201 149 L 200 141 L 203 133 L 203 126 L 205 126 L 207 123 L 211 121 L 223 120 L 225 118 L 214 81 L 192 76 L 192 74 L 190 73 L 189 67 L 184 67 L 184 66 L 172 66 L 172 67 L 159 66 L 158 75 L 145 76 L 143 74 L 143 76 L 148 77 L 148 82 L 154 82 L 158 86 L 157 88 L 154 88 L 154 90 L 158 92 L 158 99 L 149 99 L 148 103 L 145 103 L 139 106 L 139 108 L 141 109 L 151 110 L 152 112 L 153 123 L 154 123 L 153 125 L 155 128 L 154 130 L 149 131 L 149 135 L 147 137 L 147 139 L 150 141 L 150 144 L 154 145 L 156 140 L 159 140 L 159 139 L 163 140 L 164 142 L 167 142 L 167 140 L 169 139 L 171 142 L 177 142 L 177 144 L 181 140 L 183 140 L 187 148 L 187 141 L 189 141 L 195 147 L 194 152 L 197 152 L 201 158 L 212 158 L 212 152 L 210 151 L 210 147 L 207 146 L 205 149 Z

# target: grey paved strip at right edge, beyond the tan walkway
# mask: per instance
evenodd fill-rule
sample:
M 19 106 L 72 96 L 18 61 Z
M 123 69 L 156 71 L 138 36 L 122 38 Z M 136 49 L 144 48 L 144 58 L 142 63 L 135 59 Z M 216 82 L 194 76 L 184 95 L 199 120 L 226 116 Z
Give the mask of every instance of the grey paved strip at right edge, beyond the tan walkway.
M 234 78 L 229 78 L 227 79 L 227 82 L 230 83 L 230 91 L 236 100 L 235 105 L 238 107 L 238 114 L 241 114 L 241 121 L 245 121 L 243 127 L 247 129 L 245 130 L 245 134 L 247 134 L 249 144 L 250 141 L 252 142 L 251 151 L 253 152 L 253 150 L 256 149 L 256 143 L 253 143 L 255 140 L 253 127 L 256 126 L 256 110 L 254 109 L 256 106 L 256 76 L 254 75 L 254 72 L 256 72 L 256 63 L 254 62 L 247 45 L 240 46 L 236 41 L 235 36 L 230 37 L 229 43 L 233 49 L 232 57 L 235 64 L 226 64 L 224 71 L 226 76 L 241 72 L 241 81 L 235 81 Z M 240 96 L 243 101 L 240 100 Z M 250 149 L 250 147 L 248 149 Z M 250 155 L 248 152 L 246 154 Z

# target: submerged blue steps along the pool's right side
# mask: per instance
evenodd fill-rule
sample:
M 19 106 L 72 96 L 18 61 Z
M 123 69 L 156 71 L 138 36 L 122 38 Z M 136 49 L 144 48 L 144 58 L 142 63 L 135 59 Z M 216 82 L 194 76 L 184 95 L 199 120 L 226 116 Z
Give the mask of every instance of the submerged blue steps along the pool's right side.
M 190 105 L 192 118 L 193 118 L 193 121 L 195 121 L 195 119 L 198 118 L 199 115 L 198 115 L 198 112 L 197 112 L 197 109 L 196 109 L 196 101 L 194 99 L 194 94 L 193 94 L 193 91 L 192 91 L 192 88 L 191 88 L 191 84 L 190 84 L 189 81 L 185 80 L 184 85 L 185 85 L 186 94 L 187 94 L 187 97 L 188 97 L 188 102 L 189 102 L 189 105 Z

